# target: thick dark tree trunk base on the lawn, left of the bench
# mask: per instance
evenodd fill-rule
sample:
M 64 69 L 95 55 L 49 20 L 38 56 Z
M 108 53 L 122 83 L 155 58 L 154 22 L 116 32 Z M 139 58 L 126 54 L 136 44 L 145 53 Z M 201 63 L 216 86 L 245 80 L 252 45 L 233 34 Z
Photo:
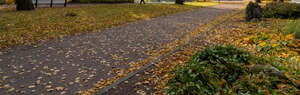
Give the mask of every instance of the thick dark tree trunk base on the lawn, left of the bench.
M 17 10 L 33 10 L 32 0 L 16 0 Z

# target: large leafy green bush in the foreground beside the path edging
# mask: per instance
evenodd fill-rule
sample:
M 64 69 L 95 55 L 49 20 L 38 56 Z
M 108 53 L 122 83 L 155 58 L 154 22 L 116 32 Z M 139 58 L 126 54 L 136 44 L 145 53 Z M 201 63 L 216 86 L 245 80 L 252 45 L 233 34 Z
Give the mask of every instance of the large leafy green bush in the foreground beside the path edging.
M 179 68 L 169 80 L 166 91 L 170 95 L 207 95 L 229 93 L 233 82 L 247 72 L 253 56 L 247 51 L 214 46 L 196 53 L 188 67 Z

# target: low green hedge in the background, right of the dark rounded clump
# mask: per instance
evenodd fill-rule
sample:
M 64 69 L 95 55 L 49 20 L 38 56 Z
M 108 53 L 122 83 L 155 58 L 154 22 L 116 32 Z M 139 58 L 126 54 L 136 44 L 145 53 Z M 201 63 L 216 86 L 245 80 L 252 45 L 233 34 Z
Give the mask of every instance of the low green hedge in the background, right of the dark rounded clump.
M 266 18 L 298 18 L 300 17 L 300 4 L 296 3 L 269 3 L 263 8 Z

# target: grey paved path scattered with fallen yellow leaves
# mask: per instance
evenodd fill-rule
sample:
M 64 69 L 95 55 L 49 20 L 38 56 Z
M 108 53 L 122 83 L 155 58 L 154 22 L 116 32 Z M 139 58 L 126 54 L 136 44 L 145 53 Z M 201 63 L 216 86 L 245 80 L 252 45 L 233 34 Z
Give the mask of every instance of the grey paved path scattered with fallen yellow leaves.
M 0 95 L 73 95 L 97 81 L 130 68 L 157 49 L 197 26 L 240 8 L 239 4 L 209 8 L 121 25 L 101 32 L 17 46 L 0 52 Z M 9 92 L 9 93 L 7 93 Z

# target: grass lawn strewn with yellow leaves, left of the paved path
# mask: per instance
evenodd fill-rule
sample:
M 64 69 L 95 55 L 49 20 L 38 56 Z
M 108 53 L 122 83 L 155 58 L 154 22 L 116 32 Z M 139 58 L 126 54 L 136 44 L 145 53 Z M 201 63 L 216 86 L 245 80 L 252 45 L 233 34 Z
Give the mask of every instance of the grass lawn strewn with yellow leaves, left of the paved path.
M 174 4 L 122 4 L 38 8 L 34 11 L 20 12 L 0 9 L 0 49 L 109 28 L 194 8 L 197 7 Z

